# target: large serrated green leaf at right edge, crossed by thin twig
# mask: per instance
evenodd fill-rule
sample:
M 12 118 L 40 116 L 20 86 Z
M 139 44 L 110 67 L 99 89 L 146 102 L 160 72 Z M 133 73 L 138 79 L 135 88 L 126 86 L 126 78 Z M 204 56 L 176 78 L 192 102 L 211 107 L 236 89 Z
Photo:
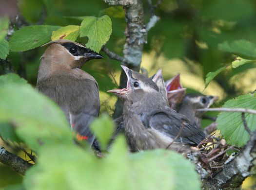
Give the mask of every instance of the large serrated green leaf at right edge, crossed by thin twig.
M 256 109 L 256 94 L 245 94 L 227 101 L 223 107 L 241 107 Z M 245 114 L 245 119 L 251 131 L 256 130 L 256 115 Z M 217 117 L 217 128 L 228 144 L 243 146 L 249 140 L 249 134 L 245 131 L 241 119 L 241 113 L 220 112 Z

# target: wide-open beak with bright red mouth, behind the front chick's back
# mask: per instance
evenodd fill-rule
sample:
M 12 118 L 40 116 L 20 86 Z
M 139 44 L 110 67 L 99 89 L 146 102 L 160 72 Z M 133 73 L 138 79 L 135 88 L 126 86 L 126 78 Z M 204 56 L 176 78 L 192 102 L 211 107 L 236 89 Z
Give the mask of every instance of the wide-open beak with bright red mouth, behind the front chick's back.
M 176 110 L 177 105 L 181 103 L 186 94 L 186 88 L 183 88 L 180 83 L 179 73 L 166 81 L 165 87 L 167 89 L 167 98 L 170 107 Z

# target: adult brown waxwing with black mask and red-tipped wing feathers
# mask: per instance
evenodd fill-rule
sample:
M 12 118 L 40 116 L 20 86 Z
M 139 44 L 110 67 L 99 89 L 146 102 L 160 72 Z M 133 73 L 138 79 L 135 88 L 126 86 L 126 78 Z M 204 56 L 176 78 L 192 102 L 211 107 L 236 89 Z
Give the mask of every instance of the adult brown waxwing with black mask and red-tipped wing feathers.
M 41 56 L 37 89 L 64 111 L 77 138 L 91 145 L 95 136 L 89 124 L 99 113 L 98 84 L 87 72 L 81 70 L 90 59 L 102 55 L 70 40 L 54 40 Z

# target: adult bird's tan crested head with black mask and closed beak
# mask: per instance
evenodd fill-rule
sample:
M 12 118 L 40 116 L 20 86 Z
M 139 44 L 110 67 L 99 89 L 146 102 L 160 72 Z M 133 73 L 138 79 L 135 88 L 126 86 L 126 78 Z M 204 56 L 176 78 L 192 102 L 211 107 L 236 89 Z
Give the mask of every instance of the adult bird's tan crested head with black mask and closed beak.
M 91 59 L 101 59 L 102 55 L 71 40 L 54 40 L 43 46 L 49 45 L 41 56 L 41 70 L 47 73 L 55 70 L 81 68 Z

